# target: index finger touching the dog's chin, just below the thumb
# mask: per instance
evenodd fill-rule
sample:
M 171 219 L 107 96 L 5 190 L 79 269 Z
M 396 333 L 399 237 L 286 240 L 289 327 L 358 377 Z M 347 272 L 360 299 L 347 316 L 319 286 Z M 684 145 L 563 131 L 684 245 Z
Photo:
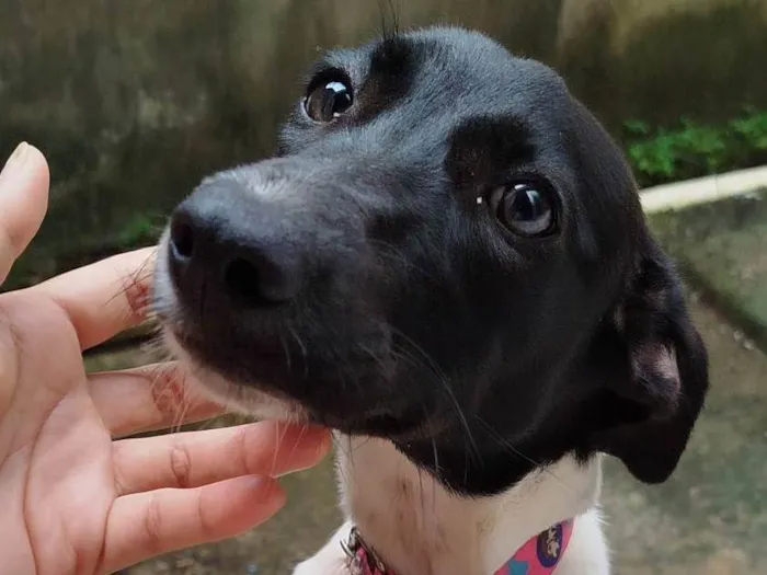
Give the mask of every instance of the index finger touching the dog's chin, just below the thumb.
M 115 255 L 30 288 L 69 315 L 80 347 L 89 349 L 147 319 L 154 248 Z

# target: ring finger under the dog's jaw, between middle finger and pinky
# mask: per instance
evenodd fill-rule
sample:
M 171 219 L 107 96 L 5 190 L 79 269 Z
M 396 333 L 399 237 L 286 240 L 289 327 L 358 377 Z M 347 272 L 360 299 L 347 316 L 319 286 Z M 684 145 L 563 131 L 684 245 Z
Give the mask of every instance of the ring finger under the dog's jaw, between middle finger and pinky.
M 277 422 L 123 439 L 113 444 L 115 483 L 126 495 L 241 475 L 277 478 L 316 465 L 330 445 L 325 429 Z

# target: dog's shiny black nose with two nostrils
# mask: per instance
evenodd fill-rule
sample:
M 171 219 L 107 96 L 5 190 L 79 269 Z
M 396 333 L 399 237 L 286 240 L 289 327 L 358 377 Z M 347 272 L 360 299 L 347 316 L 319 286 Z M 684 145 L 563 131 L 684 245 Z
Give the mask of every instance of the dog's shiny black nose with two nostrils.
M 285 214 L 236 182 L 198 188 L 171 217 L 168 256 L 180 297 L 198 310 L 218 307 L 214 313 L 291 300 L 301 269 L 285 223 Z

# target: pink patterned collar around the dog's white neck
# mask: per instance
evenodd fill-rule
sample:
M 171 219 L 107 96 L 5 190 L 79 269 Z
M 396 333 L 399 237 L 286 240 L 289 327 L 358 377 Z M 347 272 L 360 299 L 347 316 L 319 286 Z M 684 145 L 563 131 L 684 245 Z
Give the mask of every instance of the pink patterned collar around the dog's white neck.
M 493 575 L 551 575 L 562 560 L 572 533 L 572 519 L 550 527 L 529 539 Z M 352 528 L 348 541 L 342 545 L 350 557 L 351 575 L 396 575 L 365 544 L 356 527 Z

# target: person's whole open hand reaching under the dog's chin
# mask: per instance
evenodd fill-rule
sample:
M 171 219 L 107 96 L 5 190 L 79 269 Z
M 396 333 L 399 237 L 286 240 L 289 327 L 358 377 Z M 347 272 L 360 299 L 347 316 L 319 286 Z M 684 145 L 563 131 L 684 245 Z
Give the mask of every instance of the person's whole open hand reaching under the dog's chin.
M 0 175 L 0 284 L 47 209 L 22 145 Z M 88 375 L 81 353 L 145 318 L 151 250 L 0 295 L 0 573 L 95 575 L 234 536 L 277 511 L 274 478 L 317 463 L 325 430 L 274 422 L 113 439 L 198 421 L 174 364 Z

